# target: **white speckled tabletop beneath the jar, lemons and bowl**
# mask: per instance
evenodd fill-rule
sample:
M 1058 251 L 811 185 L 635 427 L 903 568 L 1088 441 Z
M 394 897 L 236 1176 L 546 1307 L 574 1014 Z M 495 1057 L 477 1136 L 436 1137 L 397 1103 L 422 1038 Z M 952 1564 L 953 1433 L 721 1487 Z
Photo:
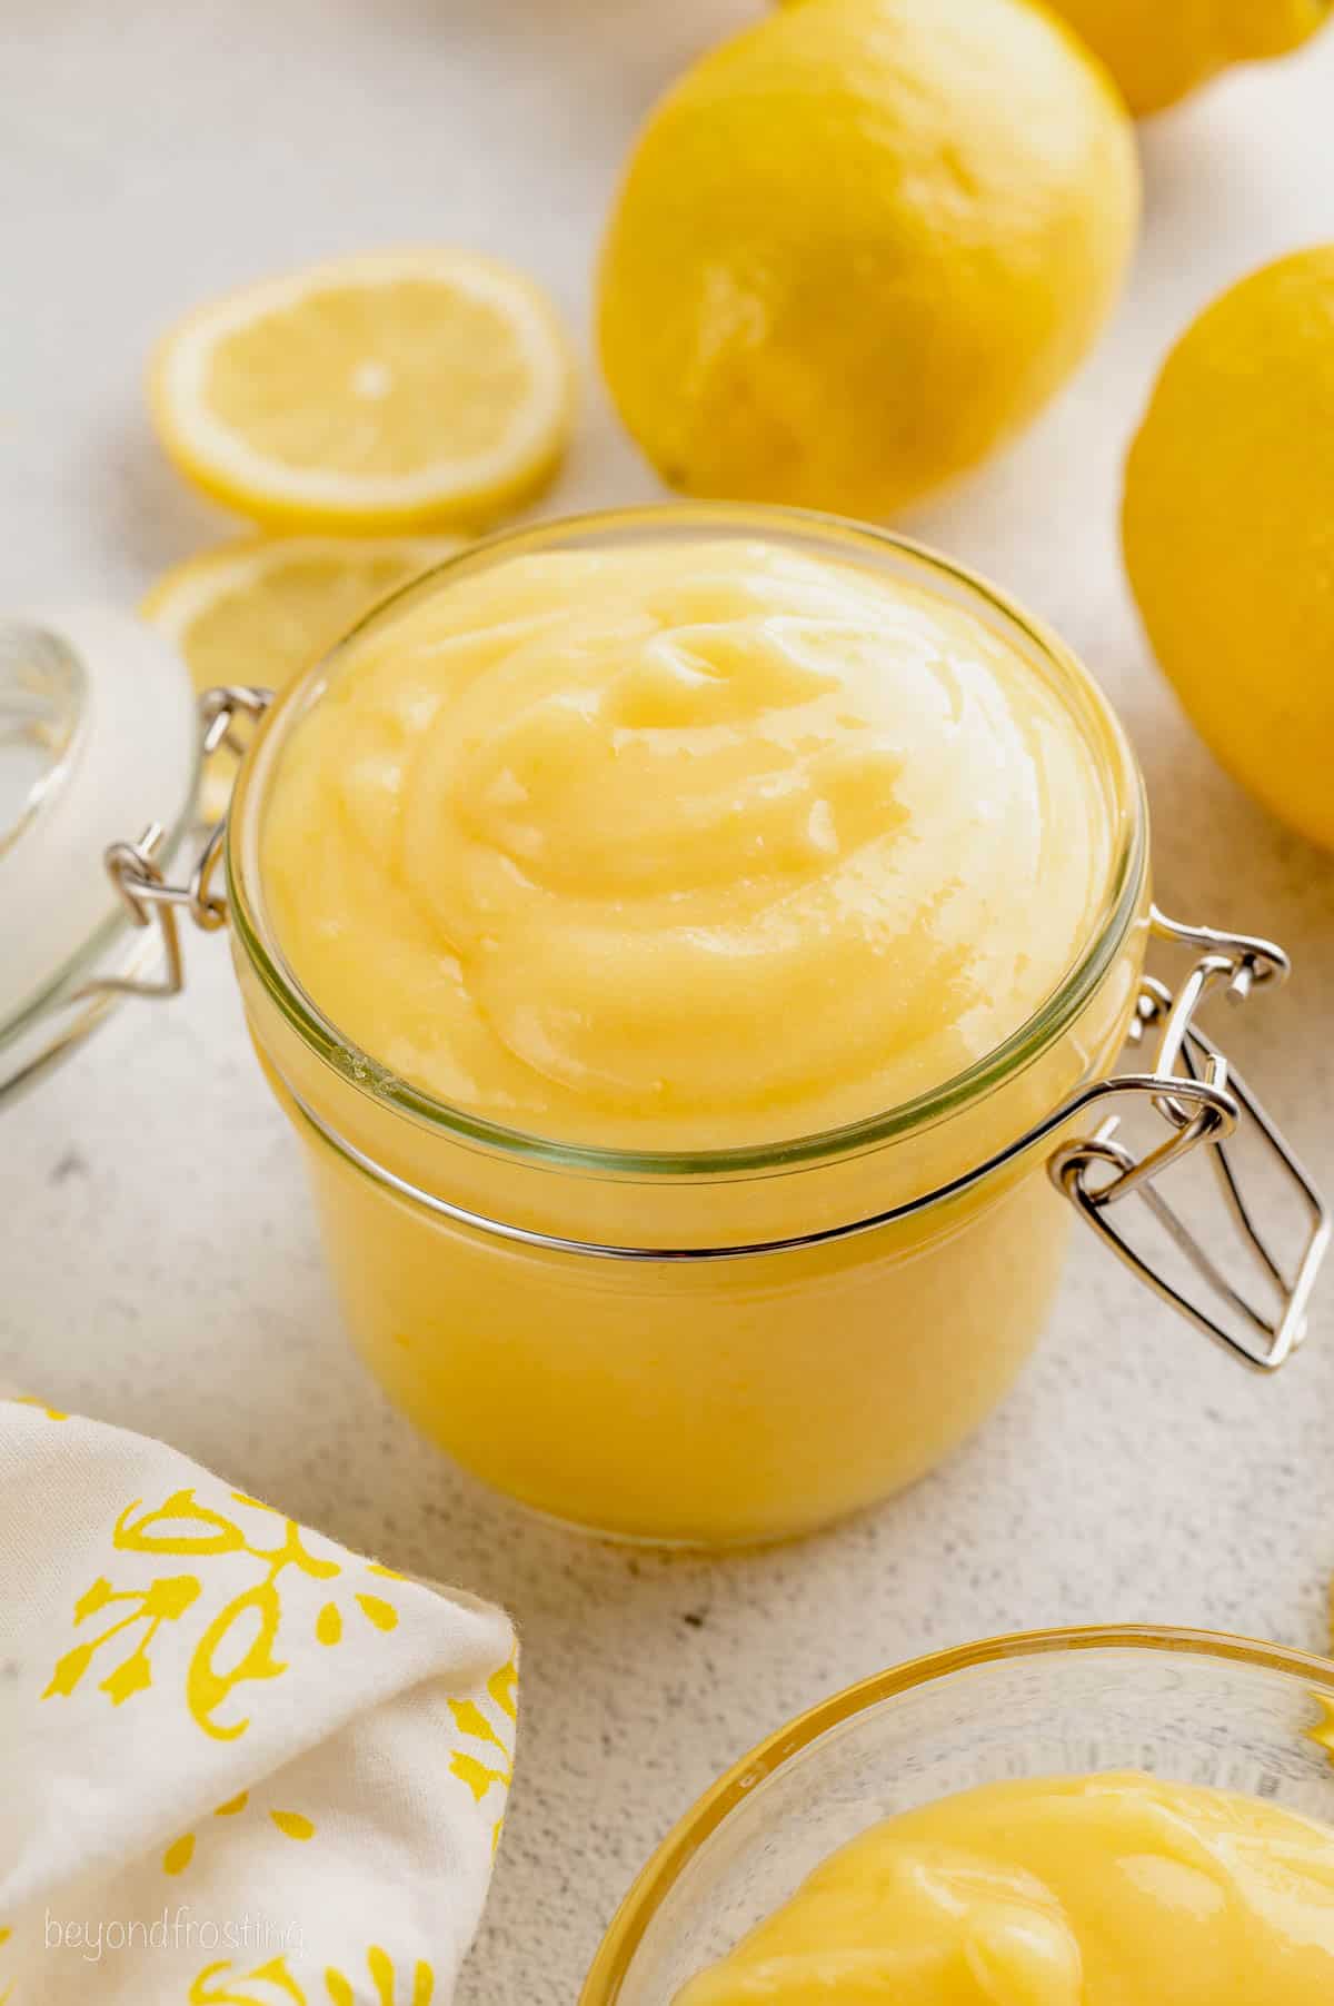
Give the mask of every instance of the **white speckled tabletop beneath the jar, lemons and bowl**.
M 622 146 L 742 0 L 8 0 L 0 177 L 0 604 L 132 598 L 229 534 L 158 459 L 138 377 L 215 287 L 393 239 L 544 277 L 580 329 Z M 1214 768 L 1119 576 L 1117 463 L 1157 355 L 1230 277 L 1334 239 L 1334 36 L 1145 132 L 1133 295 L 1007 459 L 911 528 L 1083 650 L 1149 774 L 1170 907 L 1298 959 L 1230 1025 L 1334 1186 L 1334 865 Z M 552 506 L 654 491 L 592 377 Z M 899 1657 L 1087 1619 L 1320 1647 L 1334 1569 L 1334 1282 L 1260 1384 L 1091 1244 L 1007 1408 L 897 1504 L 728 1563 L 630 1557 L 467 1490 L 337 1328 L 295 1145 L 243 1043 L 219 941 L 189 995 L 126 1009 L 0 1123 L 0 1378 L 152 1428 L 339 1539 L 508 1603 L 522 1783 L 469 2006 L 570 2006 L 668 1823 L 754 1737 Z

